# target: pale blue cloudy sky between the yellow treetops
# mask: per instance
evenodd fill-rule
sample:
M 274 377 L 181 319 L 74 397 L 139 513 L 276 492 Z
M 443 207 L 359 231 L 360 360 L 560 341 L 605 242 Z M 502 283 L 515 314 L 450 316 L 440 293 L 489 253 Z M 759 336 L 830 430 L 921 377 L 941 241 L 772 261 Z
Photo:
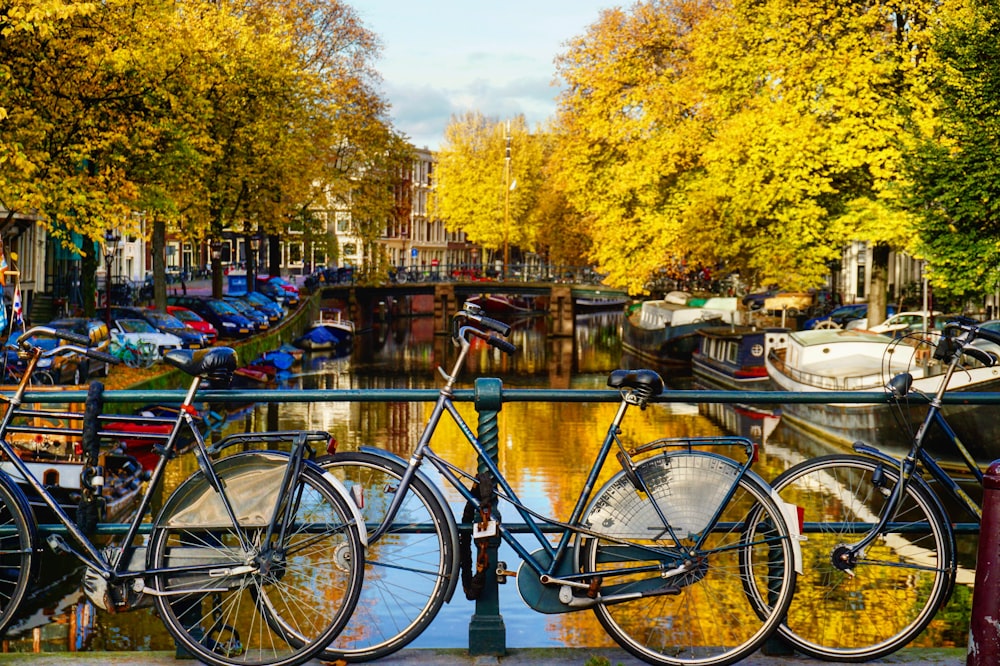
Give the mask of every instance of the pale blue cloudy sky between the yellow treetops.
M 376 68 L 393 126 L 437 150 L 453 114 L 479 111 L 529 127 L 555 115 L 555 57 L 615 0 L 356 0 L 383 45 Z

